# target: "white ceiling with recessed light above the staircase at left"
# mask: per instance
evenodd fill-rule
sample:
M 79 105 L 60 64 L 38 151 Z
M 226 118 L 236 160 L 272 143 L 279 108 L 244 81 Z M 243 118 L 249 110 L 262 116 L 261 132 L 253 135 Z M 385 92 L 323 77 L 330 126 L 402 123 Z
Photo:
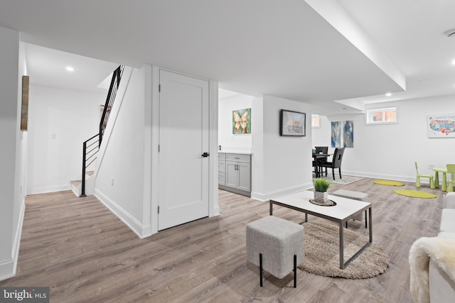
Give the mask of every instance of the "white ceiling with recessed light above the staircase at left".
M 90 57 L 24 43 L 31 84 L 106 93 L 100 83 L 118 65 Z M 66 70 L 72 67 L 73 71 Z M 109 89 L 109 87 L 107 87 Z

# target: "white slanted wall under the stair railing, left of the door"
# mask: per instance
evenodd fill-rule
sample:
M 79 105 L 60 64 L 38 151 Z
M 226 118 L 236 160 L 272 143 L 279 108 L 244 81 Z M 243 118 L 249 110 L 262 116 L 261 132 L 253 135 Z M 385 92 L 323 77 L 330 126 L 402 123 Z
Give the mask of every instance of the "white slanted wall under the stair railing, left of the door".
M 150 204 L 144 200 L 146 87 L 151 66 L 125 67 L 100 148 L 95 196 L 141 238 L 151 234 Z M 149 95 L 151 98 L 151 95 Z M 149 155 L 149 158 L 151 155 Z

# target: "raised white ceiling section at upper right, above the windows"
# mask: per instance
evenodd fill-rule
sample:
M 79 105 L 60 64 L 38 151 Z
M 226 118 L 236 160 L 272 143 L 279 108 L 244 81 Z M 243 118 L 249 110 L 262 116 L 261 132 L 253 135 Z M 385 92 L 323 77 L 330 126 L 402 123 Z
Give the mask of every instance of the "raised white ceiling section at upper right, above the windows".
M 455 1 L 338 0 L 406 77 L 406 92 L 343 100 L 373 104 L 455 94 Z

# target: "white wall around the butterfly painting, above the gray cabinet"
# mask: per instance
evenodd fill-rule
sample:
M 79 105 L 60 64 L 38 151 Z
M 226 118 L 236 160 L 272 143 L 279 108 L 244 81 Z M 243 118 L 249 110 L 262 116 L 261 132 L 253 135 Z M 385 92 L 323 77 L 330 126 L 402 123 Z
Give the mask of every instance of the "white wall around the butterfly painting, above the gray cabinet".
M 251 152 L 252 136 L 255 136 L 256 113 L 251 111 L 251 133 L 232 133 L 232 111 L 248 109 L 252 106 L 254 97 L 245 94 L 235 94 L 218 100 L 218 145 L 221 151 Z

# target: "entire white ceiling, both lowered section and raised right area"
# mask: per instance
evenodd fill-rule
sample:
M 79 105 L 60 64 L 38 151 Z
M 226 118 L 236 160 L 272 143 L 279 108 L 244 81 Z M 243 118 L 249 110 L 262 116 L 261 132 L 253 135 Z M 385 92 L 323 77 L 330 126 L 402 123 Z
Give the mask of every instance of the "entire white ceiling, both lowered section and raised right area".
M 53 53 L 41 67 L 33 59 L 41 45 L 116 63 L 87 62 L 80 75 L 154 64 L 223 89 L 314 104 L 319 114 L 338 114 L 344 105 L 336 100 L 455 94 L 455 38 L 443 34 L 455 28 L 455 1 L 318 1 L 2 0 L 0 26 L 33 44 L 27 55 L 36 81 L 54 81 L 45 71 L 65 65 Z

